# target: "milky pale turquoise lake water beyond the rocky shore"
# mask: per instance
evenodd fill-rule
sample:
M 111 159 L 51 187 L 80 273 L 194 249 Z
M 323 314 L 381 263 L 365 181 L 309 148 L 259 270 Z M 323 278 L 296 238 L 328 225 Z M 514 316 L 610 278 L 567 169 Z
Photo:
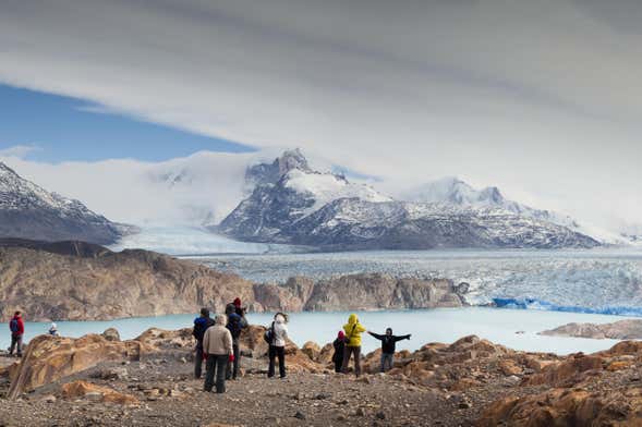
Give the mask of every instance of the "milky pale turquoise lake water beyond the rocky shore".
M 315 341 L 319 344 L 336 338 L 341 326 L 347 321 L 348 313 L 294 313 L 290 315 L 290 335 L 296 344 Z M 498 309 L 486 307 L 439 308 L 407 312 L 358 312 L 363 325 L 374 332 L 384 333 L 391 327 L 395 333 L 412 333 L 411 341 L 399 342 L 399 350 L 417 350 L 427 342 L 452 342 L 461 337 L 476 334 L 493 342 L 516 350 L 554 352 L 568 354 L 574 352 L 591 353 L 614 345 L 616 340 L 589 340 L 579 338 L 538 335 L 571 321 L 609 322 L 622 317 L 589 315 L 560 312 L 536 312 Z M 109 327 L 119 330 L 122 339 L 137 337 L 148 328 L 179 329 L 191 327 L 195 315 L 175 315 L 120 319 L 111 321 L 59 321 L 58 329 L 68 337 L 81 337 L 85 333 L 100 333 Z M 250 314 L 251 324 L 267 325 L 270 314 Z M 27 322 L 26 339 L 46 333 L 49 324 Z M 523 333 L 516 333 L 523 332 Z M 9 333 L 0 337 L 0 345 L 9 346 Z M 363 347 L 366 352 L 377 349 L 379 342 L 364 335 Z

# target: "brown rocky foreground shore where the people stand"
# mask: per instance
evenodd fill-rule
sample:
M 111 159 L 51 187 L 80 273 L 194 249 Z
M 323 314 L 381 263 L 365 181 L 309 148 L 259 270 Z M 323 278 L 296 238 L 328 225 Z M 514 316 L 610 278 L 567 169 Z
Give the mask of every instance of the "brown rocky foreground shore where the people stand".
M 377 374 L 330 370 L 331 346 L 287 347 L 289 375 L 267 379 L 264 329 L 242 337 L 243 373 L 228 392 L 192 378 L 189 329 L 119 341 L 38 337 L 1 370 L 0 419 L 29 426 L 635 426 L 642 343 L 592 355 L 516 352 L 477 337 L 400 352 Z M 12 359 L 7 358 L 7 362 Z

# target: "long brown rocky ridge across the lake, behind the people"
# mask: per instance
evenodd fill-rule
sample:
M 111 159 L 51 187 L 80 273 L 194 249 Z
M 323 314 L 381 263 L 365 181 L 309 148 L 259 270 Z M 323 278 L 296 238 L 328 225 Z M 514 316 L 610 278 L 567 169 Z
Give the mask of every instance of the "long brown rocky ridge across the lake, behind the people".
M 239 296 L 253 312 L 459 307 L 465 288 L 448 280 L 353 274 L 283 285 L 147 251 L 111 252 L 82 242 L 0 243 L 0 318 L 99 320 L 222 310 Z

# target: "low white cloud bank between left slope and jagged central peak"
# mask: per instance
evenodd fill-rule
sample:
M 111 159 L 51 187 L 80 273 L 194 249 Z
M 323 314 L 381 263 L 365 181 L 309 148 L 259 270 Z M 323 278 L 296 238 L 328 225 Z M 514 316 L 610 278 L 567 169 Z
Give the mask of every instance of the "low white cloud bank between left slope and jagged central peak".
M 23 178 L 82 200 L 110 220 L 146 227 L 219 221 L 243 197 L 245 168 L 262 154 L 197 152 L 162 162 L 45 163 L 2 157 Z

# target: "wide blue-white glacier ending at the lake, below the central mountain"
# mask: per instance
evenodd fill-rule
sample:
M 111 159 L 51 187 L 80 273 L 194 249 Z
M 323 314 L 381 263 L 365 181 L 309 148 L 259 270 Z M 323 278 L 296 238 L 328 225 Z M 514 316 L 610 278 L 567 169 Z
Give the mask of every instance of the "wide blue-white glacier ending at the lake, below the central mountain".
M 381 251 L 201 259 L 259 282 L 361 272 L 469 283 L 467 301 L 519 309 L 642 316 L 642 251 Z

